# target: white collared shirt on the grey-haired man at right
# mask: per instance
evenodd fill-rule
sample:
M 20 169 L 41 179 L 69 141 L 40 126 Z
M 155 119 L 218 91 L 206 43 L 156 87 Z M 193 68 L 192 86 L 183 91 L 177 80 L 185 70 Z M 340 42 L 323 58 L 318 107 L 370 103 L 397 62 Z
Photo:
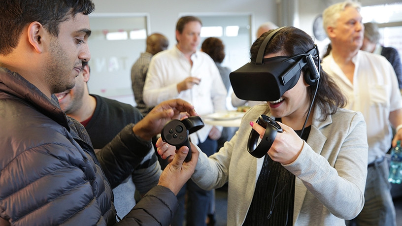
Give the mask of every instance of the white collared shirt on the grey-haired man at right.
M 347 97 L 347 109 L 363 113 L 367 124 L 369 160 L 381 158 L 391 147 L 390 112 L 402 108 L 402 98 L 394 68 L 383 56 L 359 50 L 353 84 L 335 63 L 332 53 L 322 67 Z

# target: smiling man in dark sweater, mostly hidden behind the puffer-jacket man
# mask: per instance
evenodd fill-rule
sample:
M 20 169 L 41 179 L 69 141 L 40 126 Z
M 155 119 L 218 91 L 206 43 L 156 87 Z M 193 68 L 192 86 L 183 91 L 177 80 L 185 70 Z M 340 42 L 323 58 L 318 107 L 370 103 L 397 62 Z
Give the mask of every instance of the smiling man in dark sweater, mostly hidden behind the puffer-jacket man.
M 88 62 L 82 63 L 82 69 L 75 78 L 75 86 L 65 92 L 55 94 L 60 108 L 71 118 L 80 122 L 88 132 L 92 146 L 102 149 L 128 124 L 138 123 L 142 118 L 139 110 L 130 104 L 114 99 L 89 94 L 90 79 Z M 116 188 L 113 188 L 114 207 L 118 216 L 125 216 L 135 205 L 134 191 L 143 196 L 158 184 L 162 169 L 155 149 L 137 164 L 131 176 Z

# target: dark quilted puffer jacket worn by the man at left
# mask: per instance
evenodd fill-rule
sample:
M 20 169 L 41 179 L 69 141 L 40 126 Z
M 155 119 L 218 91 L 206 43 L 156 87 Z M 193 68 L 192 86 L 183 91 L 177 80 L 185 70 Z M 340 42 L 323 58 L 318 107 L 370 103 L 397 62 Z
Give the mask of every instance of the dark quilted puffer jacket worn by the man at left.
M 95 154 L 84 127 L 57 99 L 0 67 L 0 225 L 115 224 L 111 188 L 151 145 L 132 127 Z M 118 224 L 168 225 L 176 205 L 174 194 L 157 186 Z

